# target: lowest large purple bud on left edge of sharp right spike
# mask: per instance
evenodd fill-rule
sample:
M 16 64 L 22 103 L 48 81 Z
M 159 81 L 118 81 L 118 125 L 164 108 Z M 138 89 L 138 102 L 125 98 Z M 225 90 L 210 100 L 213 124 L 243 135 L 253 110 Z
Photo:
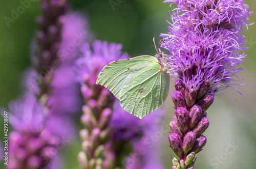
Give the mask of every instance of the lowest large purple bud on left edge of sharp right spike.
M 176 133 L 170 133 L 168 139 L 170 142 L 170 147 L 174 150 L 175 154 L 179 157 L 183 153 L 182 140 L 180 139 L 180 136 Z

